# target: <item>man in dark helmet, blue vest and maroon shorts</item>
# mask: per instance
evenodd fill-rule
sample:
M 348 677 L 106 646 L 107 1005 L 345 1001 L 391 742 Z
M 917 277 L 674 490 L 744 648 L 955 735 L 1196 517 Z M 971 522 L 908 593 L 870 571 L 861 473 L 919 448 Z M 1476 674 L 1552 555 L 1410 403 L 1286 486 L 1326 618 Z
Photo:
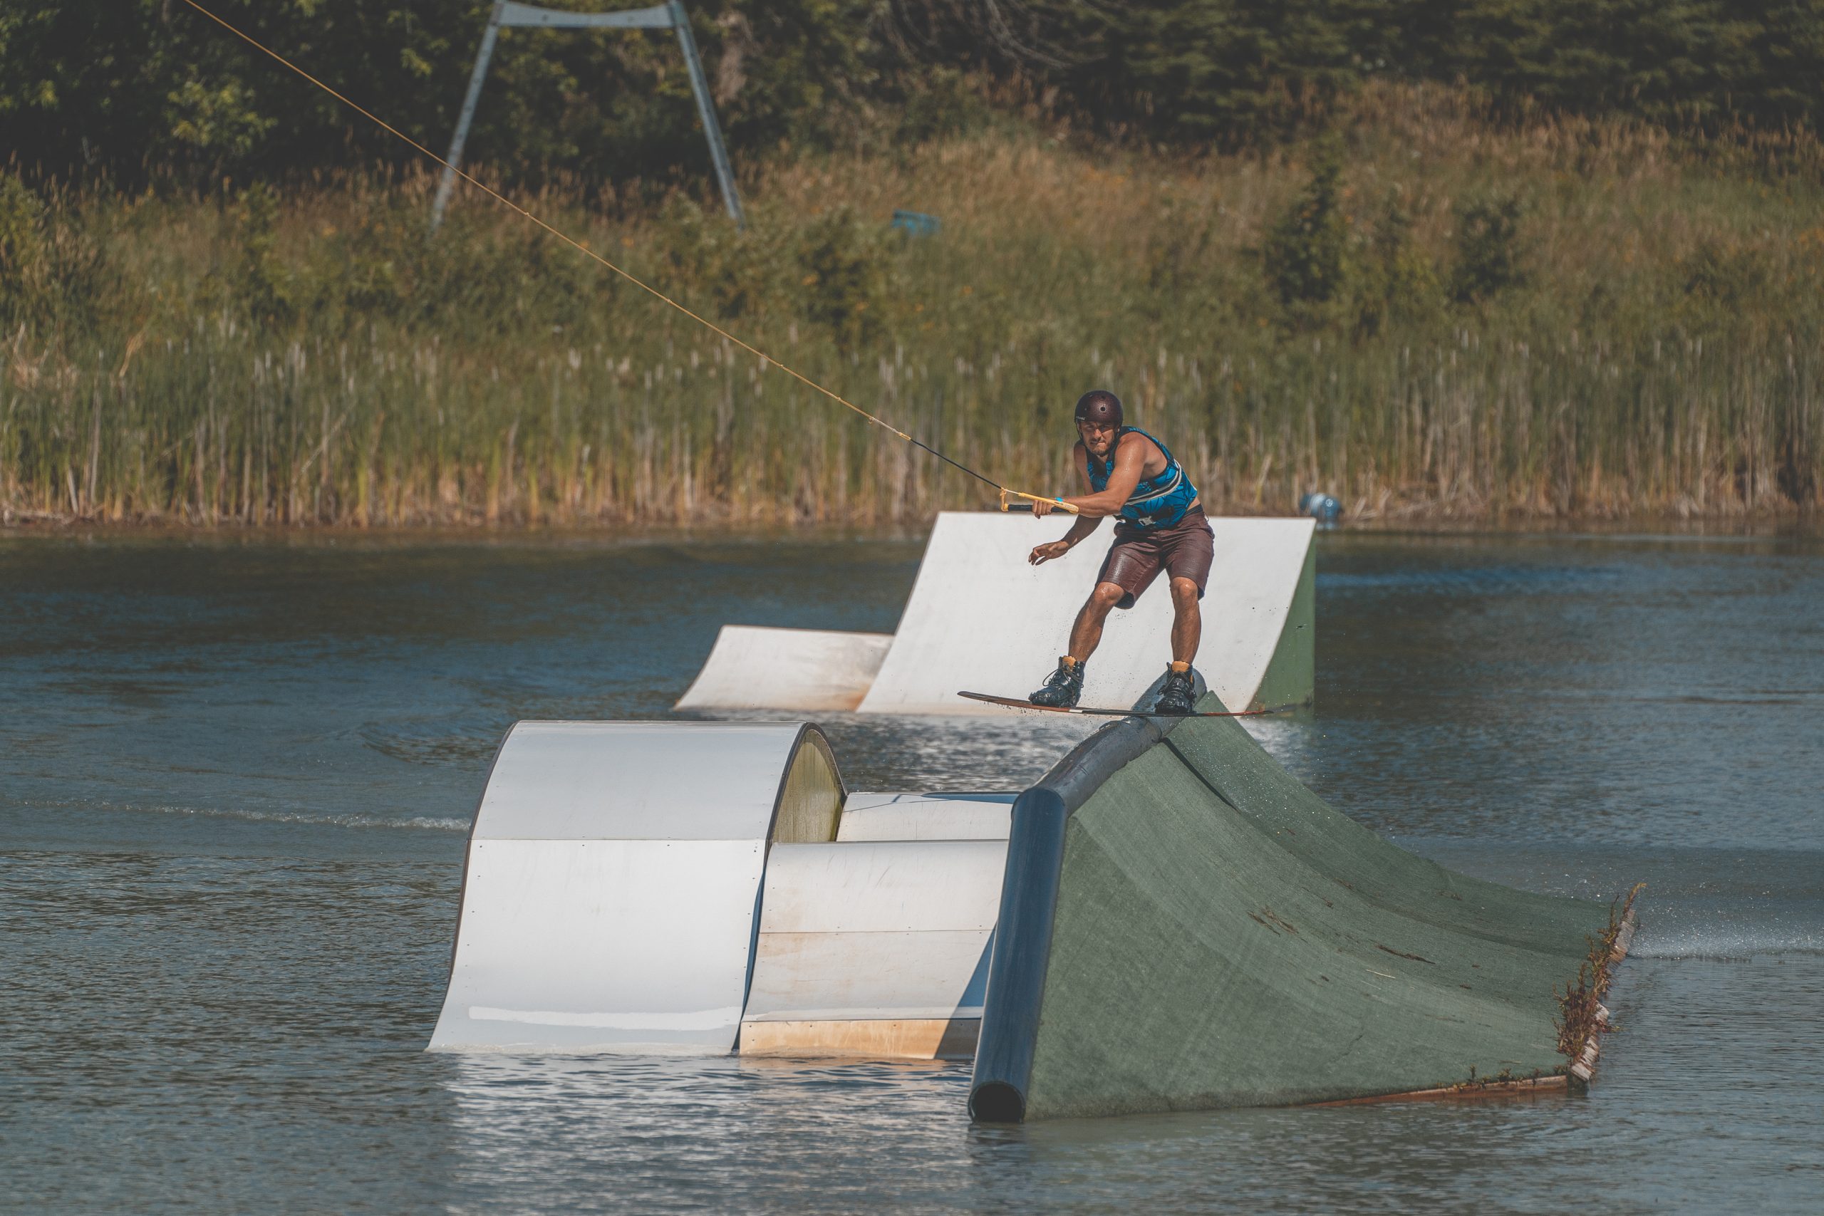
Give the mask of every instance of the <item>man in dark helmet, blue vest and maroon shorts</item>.
M 1080 438 L 1071 459 L 1089 494 L 1062 500 L 1078 510 L 1071 531 L 1063 540 L 1034 547 L 1027 560 L 1043 565 L 1062 558 L 1102 525 L 1102 516 L 1116 516 L 1114 543 L 1102 560 L 1089 600 L 1071 625 L 1071 653 L 1058 660 L 1045 687 L 1027 700 L 1034 706 L 1074 706 L 1083 693 L 1083 664 L 1102 642 L 1102 622 L 1109 618 L 1109 609 L 1133 607 L 1164 571 L 1169 576 L 1173 609 L 1171 667 L 1153 713 L 1191 713 L 1191 660 L 1197 658 L 1197 644 L 1204 633 L 1198 600 L 1209 582 L 1215 547 L 1215 532 L 1209 531 L 1197 487 L 1164 443 L 1138 427 L 1122 425 L 1122 399 L 1107 388 L 1078 397 L 1076 434 Z M 1049 501 L 1032 503 L 1038 518 L 1051 510 Z

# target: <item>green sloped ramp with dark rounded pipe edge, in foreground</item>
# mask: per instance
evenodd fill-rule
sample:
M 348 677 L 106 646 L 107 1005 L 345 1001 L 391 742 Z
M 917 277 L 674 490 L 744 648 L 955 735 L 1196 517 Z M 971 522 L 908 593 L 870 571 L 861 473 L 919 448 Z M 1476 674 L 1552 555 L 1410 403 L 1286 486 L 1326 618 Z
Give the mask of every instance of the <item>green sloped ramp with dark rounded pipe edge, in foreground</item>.
M 1124 720 L 1016 806 L 972 1105 L 1071 1118 L 1558 1072 L 1552 990 L 1607 921 L 1388 844 L 1231 718 Z

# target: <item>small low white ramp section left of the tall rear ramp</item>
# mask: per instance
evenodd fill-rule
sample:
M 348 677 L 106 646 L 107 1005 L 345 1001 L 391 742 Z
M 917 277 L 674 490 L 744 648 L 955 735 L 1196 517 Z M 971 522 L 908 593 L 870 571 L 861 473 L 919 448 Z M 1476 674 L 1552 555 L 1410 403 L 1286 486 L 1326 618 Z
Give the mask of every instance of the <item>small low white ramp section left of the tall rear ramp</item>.
M 888 633 L 722 625 L 675 709 L 854 709 L 892 640 Z

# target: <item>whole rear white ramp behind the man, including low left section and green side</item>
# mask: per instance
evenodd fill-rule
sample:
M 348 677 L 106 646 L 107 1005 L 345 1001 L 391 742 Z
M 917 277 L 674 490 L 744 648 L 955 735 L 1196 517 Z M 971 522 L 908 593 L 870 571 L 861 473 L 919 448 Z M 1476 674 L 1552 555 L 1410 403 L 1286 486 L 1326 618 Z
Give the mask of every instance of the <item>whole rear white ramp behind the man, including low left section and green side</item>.
M 861 713 L 989 715 L 961 689 L 1023 696 L 1065 651 L 1071 622 L 1113 541 L 1104 525 L 1074 551 L 1034 567 L 1034 545 L 1069 520 L 1027 514 L 938 516 L 899 631 L 826 631 L 724 625 L 680 709 L 832 709 L 865 685 Z M 1197 667 L 1231 709 L 1262 696 L 1311 695 L 1313 520 L 1211 520 L 1215 562 L 1204 596 Z M 1164 576 L 1133 609 L 1109 614 L 1089 662 L 1083 704 L 1136 704 L 1166 671 L 1171 596 Z M 845 645 L 841 640 L 850 638 Z M 865 656 L 863 656 L 865 654 Z M 868 660 L 876 671 L 868 671 Z M 1270 678 L 1279 660 L 1279 675 Z M 1271 687 L 1270 687 L 1271 685 Z M 764 704 L 762 704 L 764 702 Z M 1012 711 L 1000 711 L 1012 713 Z

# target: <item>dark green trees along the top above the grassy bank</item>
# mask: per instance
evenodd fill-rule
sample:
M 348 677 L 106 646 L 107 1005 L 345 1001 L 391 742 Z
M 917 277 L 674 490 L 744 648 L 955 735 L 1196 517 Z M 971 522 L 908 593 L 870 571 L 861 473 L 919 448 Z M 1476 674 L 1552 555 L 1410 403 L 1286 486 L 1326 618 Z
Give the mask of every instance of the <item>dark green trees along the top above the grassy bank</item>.
M 202 0 L 441 149 L 491 0 Z M 611 7 L 611 0 L 549 0 Z M 624 7 L 624 5 L 622 5 Z M 1321 124 L 1375 78 L 1496 117 L 1817 129 L 1824 0 L 689 0 L 739 157 L 912 142 L 1027 113 L 1166 148 Z M 514 182 L 708 170 L 668 31 L 502 36 L 471 157 Z M 193 186 L 410 153 L 184 0 L 0 11 L 0 155 L 62 180 Z

